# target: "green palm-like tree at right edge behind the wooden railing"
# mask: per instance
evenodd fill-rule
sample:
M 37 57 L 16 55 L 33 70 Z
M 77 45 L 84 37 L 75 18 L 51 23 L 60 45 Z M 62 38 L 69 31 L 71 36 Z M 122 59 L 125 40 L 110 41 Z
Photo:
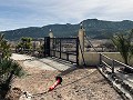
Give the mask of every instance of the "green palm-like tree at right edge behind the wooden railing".
M 120 51 L 125 64 L 129 64 L 131 58 L 133 57 L 132 39 L 133 39 L 133 29 L 126 36 L 117 34 L 114 36 L 112 39 L 115 48 L 117 49 L 117 51 Z

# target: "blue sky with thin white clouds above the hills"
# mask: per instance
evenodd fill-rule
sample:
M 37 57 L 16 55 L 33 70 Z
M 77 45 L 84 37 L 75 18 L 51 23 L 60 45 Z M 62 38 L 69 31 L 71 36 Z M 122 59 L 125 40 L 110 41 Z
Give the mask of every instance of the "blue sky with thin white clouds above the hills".
M 0 31 L 85 19 L 133 20 L 133 0 L 0 0 Z

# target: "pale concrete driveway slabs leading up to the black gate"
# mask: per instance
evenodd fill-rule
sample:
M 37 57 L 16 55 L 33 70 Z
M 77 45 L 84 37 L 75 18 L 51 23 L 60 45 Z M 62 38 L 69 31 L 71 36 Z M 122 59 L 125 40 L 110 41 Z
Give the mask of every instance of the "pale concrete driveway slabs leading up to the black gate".
M 59 71 L 64 71 L 68 69 L 74 69 L 74 64 L 69 63 L 69 62 L 63 62 L 61 63 L 58 62 L 58 60 L 55 60 L 55 58 L 43 58 L 43 59 L 38 59 L 38 58 L 33 58 L 30 56 L 25 56 L 25 54 L 18 54 L 18 53 L 13 53 L 11 59 L 13 60 L 24 60 L 23 61 L 23 66 L 24 67 L 38 67 L 40 69 L 44 69 L 44 70 L 59 70 Z

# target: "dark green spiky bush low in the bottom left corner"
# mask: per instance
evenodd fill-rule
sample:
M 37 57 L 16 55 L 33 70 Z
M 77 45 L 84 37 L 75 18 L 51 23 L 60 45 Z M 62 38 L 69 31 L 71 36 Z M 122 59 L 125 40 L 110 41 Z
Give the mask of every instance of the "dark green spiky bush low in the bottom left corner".
M 0 62 L 0 93 L 3 99 L 10 90 L 12 79 L 16 77 L 22 77 L 24 71 L 22 70 L 22 67 L 13 60 L 3 59 Z

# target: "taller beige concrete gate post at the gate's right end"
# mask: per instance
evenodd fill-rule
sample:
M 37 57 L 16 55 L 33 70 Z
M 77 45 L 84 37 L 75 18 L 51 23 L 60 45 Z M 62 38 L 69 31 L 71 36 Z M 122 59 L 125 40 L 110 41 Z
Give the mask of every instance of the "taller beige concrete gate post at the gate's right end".
M 85 30 L 83 29 L 82 24 L 81 28 L 79 30 L 79 64 L 83 66 L 83 53 L 84 53 L 84 33 Z

